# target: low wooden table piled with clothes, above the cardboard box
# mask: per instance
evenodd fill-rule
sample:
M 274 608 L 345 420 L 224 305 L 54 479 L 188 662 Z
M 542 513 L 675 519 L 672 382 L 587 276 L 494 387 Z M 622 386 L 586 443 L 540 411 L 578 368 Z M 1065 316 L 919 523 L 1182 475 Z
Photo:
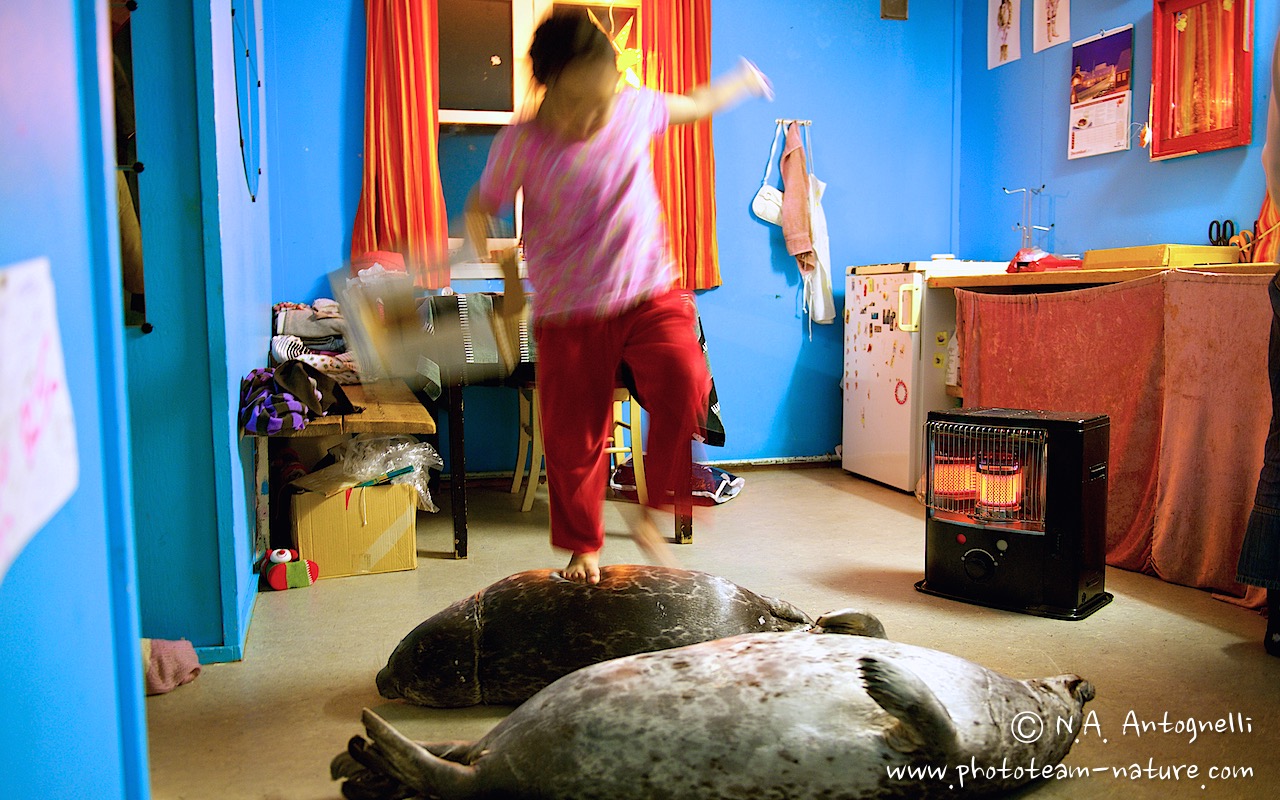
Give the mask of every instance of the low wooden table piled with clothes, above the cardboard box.
M 353 406 L 364 408 L 358 413 L 325 416 L 310 420 L 302 430 L 271 434 L 270 438 L 340 436 L 348 434 L 434 434 L 435 419 L 419 402 L 403 380 L 384 380 L 371 384 L 343 387 Z M 257 435 L 255 439 L 266 439 Z M 271 506 L 268 474 L 266 442 L 255 442 L 253 475 L 257 492 L 253 511 L 257 521 L 255 548 L 266 552 L 270 543 Z M 461 516 L 460 516 L 461 515 Z M 453 507 L 453 556 L 467 557 L 466 504 Z

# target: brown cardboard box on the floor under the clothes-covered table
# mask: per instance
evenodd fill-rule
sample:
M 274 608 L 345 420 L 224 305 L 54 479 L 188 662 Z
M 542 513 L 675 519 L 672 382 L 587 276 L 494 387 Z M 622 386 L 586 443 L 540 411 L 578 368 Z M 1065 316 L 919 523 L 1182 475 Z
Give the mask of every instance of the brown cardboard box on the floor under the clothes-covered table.
M 308 475 L 293 495 L 293 545 L 320 577 L 417 568 L 413 486 L 353 486 L 351 479 Z

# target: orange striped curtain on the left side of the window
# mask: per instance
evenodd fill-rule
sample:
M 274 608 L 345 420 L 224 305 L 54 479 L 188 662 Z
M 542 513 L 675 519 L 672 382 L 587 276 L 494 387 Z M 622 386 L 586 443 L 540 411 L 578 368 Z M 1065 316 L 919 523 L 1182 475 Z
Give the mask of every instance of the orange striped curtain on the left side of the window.
M 436 0 L 365 0 L 365 169 L 351 256 L 394 251 L 422 288 L 449 284 L 436 154 Z

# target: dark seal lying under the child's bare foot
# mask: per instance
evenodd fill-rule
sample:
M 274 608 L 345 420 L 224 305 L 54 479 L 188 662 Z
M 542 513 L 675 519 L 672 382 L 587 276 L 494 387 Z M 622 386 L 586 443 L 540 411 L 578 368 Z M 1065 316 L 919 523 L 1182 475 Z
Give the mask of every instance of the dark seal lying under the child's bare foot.
M 378 692 L 435 708 L 518 704 L 602 660 L 810 627 L 813 620 L 790 603 L 707 572 L 617 564 L 588 585 L 532 570 L 415 627 L 379 671 Z

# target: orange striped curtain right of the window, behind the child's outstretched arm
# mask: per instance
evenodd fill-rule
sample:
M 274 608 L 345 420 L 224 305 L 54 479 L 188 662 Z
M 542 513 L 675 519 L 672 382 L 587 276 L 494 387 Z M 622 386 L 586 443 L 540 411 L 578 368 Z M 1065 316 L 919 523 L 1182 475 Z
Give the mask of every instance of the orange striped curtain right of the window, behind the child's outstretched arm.
M 712 77 L 710 0 L 643 0 L 645 84 L 682 95 Z M 654 143 L 658 195 L 685 288 L 721 284 L 716 247 L 716 154 L 709 119 L 673 125 Z

